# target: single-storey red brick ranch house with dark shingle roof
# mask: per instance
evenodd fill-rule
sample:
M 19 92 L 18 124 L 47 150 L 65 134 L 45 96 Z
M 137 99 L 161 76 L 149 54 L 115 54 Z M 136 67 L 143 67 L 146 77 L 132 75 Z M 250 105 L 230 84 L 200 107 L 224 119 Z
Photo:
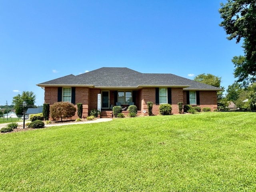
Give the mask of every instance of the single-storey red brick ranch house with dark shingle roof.
M 217 91 L 220 88 L 202 84 L 174 74 L 140 73 L 129 68 L 103 67 L 74 76 L 37 84 L 44 88 L 44 103 L 70 102 L 83 104 L 82 116 L 92 109 L 100 109 L 101 117 L 112 117 L 112 107 L 130 102 L 138 108 L 138 115 L 148 115 L 147 102 L 153 102 L 153 114 L 159 114 L 159 104 L 172 105 L 178 114 L 178 102 L 184 105 L 217 109 Z M 128 113 L 125 112 L 124 113 Z M 77 114 L 74 118 L 77 118 Z

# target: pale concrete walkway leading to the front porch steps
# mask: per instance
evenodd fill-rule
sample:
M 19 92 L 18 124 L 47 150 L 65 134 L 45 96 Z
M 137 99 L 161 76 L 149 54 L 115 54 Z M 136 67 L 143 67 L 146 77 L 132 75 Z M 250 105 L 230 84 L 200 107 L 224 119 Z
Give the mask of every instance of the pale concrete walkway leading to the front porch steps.
M 80 121 L 80 122 L 71 122 L 71 123 L 60 123 L 60 124 L 45 124 L 45 127 L 50 127 L 50 126 L 62 126 L 62 125 L 74 125 L 74 124 L 87 124 L 87 123 L 100 123 L 100 122 L 107 122 L 107 121 L 112 121 L 112 118 L 98 118 L 96 120 L 92 120 L 92 121 Z M 25 121 L 26 123 L 29 123 L 30 121 Z M 2 123 L 0 124 L 0 129 L 2 129 L 3 127 L 5 127 L 7 124 L 9 123 Z M 19 125 L 23 125 L 23 121 L 19 121 L 17 122 Z

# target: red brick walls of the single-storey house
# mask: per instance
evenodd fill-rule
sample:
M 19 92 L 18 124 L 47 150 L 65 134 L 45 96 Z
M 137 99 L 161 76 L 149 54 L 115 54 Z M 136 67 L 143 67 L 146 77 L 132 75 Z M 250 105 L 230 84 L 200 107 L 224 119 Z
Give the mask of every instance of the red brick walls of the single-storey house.
M 58 87 L 45 87 L 44 89 L 44 102 L 50 105 L 58 102 Z M 97 109 L 97 96 L 102 90 L 98 88 L 76 87 L 75 88 L 75 107 L 77 103 L 83 104 L 83 117 L 87 117 L 92 109 Z M 140 90 L 133 90 L 136 92 L 136 98 L 133 98 L 134 104 L 137 106 L 138 115 L 148 115 L 147 102 L 153 102 L 152 113 L 159 114 L 159 104 L 156 104 L 156 88 L 141 88 Z M 114 90 L 109 90 L 109 103 L 114 103 Z M 200 107 L 210 107 L 213 111 L 217 108 L 217 93 L 216 91 L 200 91 Z M 178 102 L 187 104 L 186 91 L 183 88 L 171 88 L 171 105 L 172 113 L 178 114 Z M 144 113 L 146 111 L 146 113 Z M 77 114 L 74 118 L 78 118 Z

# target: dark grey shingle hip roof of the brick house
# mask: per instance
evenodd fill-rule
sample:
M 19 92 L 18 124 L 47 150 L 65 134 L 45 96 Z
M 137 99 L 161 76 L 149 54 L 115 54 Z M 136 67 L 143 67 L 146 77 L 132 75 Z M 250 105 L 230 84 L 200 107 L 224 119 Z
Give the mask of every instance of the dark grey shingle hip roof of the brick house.
M 182 87 L 184 90 L 222 90 L 174 74 L 140 73 L 129 68 L 103 67 L 77 76 L 68 75 L 38 86 L 89 86 L 99 88 L 138 88 L 143 86 Z

